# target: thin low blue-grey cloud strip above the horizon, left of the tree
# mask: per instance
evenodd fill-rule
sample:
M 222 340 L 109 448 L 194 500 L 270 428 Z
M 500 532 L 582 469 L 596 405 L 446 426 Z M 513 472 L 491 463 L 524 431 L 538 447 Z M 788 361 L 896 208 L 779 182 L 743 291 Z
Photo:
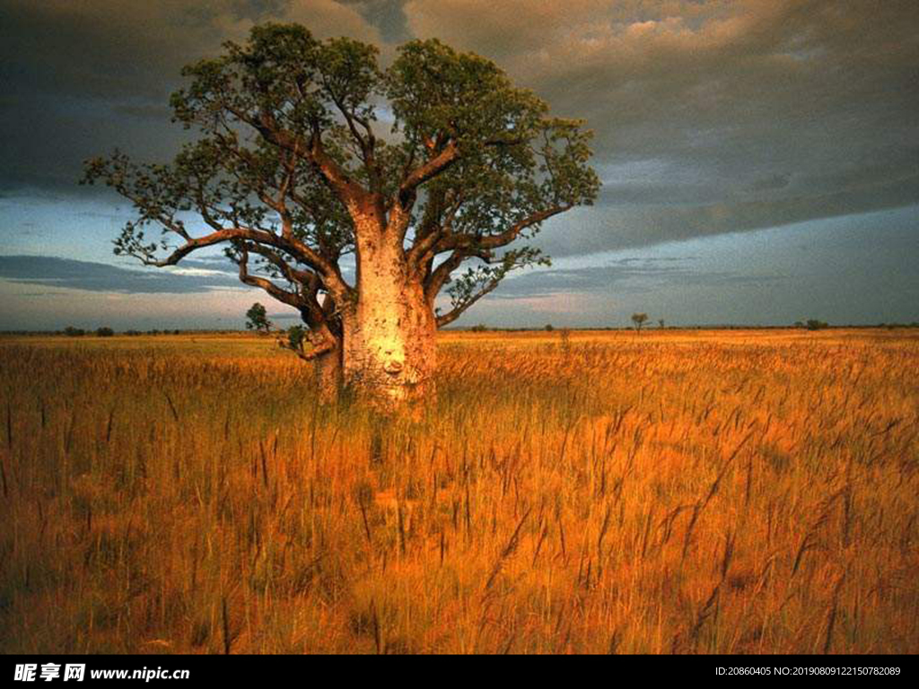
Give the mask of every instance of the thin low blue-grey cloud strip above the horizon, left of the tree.
M 215 269 L 208 262 L 191 263 Z M 0 256 L 0 279 L 50 288 L 130 294 L 188 294 L 235 288 L 240 284 L 238 277 L 233 275 L 130 270 L 116 265 L 50 256 Z

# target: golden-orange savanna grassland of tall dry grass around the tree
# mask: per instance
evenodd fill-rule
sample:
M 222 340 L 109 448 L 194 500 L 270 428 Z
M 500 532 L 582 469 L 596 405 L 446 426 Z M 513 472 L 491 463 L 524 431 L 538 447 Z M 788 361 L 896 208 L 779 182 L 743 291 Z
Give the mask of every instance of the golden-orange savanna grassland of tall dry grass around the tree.
M 915 331 L 0 340 L 0 652 L 915 653 Z

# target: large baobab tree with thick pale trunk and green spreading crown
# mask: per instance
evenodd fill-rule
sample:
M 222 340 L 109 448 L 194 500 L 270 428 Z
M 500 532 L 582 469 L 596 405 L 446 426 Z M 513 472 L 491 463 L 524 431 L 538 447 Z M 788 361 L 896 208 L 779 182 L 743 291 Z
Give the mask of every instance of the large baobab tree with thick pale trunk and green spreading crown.
M 590 132 L 437 40 L 386 70 L 375 47 L 298 25 L 224 48 L 183 71 L 174 119 L 199 138 L 172 164 L 87 162 L 137 212 L 116 254 L 165 266 L 221 246 L 244 284 L 300 311 L 323 396 L 429 399 L 437 328 L 546 262 L 526 241 L 596 197 Z

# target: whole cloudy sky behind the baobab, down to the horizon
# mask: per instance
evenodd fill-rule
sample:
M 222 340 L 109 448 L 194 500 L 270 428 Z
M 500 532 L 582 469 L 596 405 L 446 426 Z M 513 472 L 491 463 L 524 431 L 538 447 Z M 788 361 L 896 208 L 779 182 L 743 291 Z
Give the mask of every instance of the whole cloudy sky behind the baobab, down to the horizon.
M 444 40 L 594 130 L 596 204 L 458 326 L 919 321 L 914 0 L 4 0 L 0 330 L 291 322 L 218 257 L 114 256 L 130 204 L 77 185 L 115 148 L 168 161 L 181 67 L 269 20 L 384 64 Z

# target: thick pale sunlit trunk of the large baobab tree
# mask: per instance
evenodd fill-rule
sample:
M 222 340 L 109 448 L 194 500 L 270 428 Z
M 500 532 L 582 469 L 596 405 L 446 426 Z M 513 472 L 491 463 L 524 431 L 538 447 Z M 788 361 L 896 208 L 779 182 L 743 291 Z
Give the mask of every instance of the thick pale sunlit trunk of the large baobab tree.
M 437 323 L 400 240 L 380 232 L 360 242 L 357 294 L 343 319 L 346 386 L 383 411 L 434 399 Z

